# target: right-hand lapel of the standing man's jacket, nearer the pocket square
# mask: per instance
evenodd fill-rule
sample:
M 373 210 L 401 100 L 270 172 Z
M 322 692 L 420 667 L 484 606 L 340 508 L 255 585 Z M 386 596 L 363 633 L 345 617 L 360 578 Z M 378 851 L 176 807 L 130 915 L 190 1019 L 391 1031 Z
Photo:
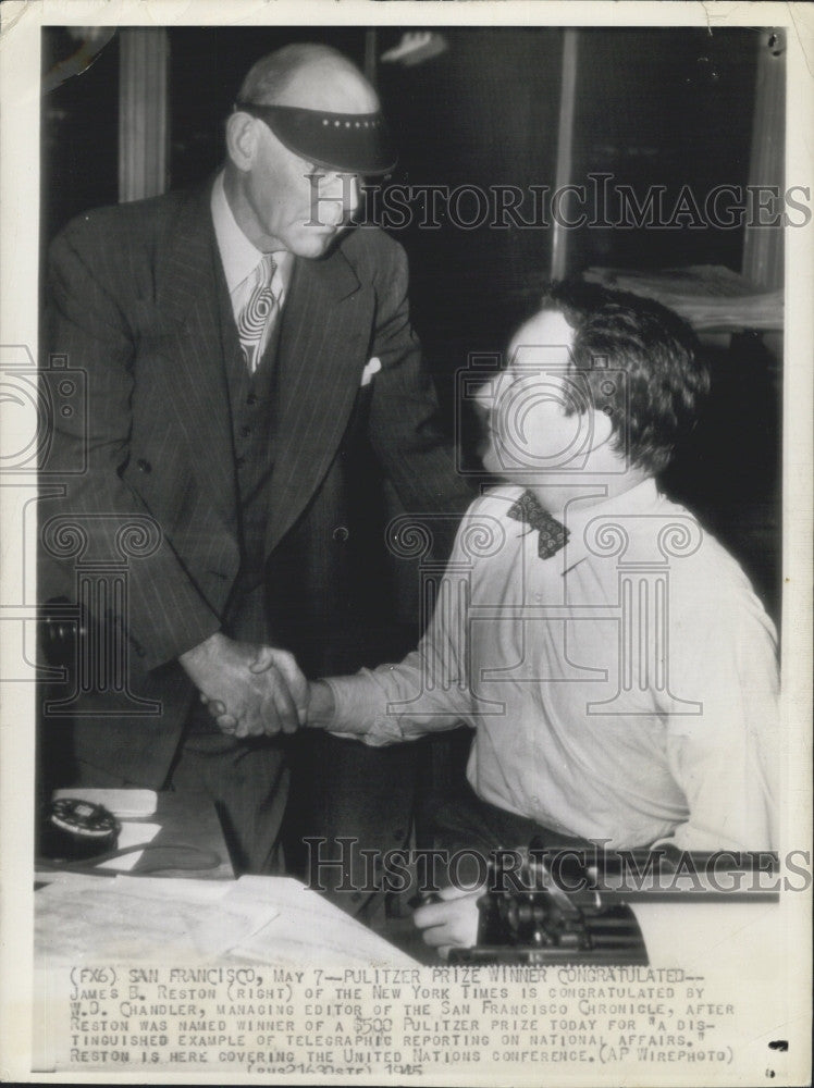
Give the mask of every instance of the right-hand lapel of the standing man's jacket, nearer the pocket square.
M 267 555 L 319 486 L 359 388 L 373 308 L 342 250 L 297 260 L 278 354 L 278 456 Z

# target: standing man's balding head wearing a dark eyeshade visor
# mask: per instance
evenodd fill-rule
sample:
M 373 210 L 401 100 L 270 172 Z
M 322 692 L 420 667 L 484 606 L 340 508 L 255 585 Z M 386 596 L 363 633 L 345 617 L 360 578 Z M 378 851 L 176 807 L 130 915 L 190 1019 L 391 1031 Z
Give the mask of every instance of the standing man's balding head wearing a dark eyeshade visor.
M 349 226 L 360 177 L 395 162 L 373 88 L 342 53 L 312 44 L 254 65 L 226 121 L 226 150 L 224 187 L 243 233 L 262 252 L 307 258 L 323 257 Z

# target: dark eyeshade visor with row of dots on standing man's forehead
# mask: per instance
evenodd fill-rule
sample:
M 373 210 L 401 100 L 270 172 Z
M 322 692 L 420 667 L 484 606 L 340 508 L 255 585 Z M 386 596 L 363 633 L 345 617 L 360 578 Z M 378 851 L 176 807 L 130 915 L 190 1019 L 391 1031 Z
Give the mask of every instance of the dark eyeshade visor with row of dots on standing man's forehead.
M 381 113 L 324 113 L 296 106 L 235 102 L 259 118 L 289 151 L 328 170 L 386 174 L 397 156 Z

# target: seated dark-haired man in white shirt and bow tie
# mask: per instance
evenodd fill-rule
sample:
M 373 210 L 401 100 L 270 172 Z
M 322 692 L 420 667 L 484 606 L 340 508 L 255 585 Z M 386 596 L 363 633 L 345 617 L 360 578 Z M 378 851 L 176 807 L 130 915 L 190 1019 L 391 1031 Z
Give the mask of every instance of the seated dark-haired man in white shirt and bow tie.
M 418 650 L 320 681 L 309 706 L 309 725 L 368 744 L 474 729 L 441 845 L 776 845 L 775 631 L 654 479 L 707 390 L 675 313 L 577 285 L 480 391 L 484 465 L 507 484 L 470 506 Z M 444 889 L 416 913 L 424 939 L 472 943 L 476 898 Z

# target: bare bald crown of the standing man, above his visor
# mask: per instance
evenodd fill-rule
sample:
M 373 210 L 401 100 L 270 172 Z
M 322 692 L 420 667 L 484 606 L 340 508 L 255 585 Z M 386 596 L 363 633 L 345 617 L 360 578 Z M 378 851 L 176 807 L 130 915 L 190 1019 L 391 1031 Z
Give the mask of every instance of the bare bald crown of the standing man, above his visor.
M 330 46 L 285 46 L 259 60 L 238 98 L 267 106 L 297 106 L 333 113 L 373 113 L 379 98 L 346 57 Z

